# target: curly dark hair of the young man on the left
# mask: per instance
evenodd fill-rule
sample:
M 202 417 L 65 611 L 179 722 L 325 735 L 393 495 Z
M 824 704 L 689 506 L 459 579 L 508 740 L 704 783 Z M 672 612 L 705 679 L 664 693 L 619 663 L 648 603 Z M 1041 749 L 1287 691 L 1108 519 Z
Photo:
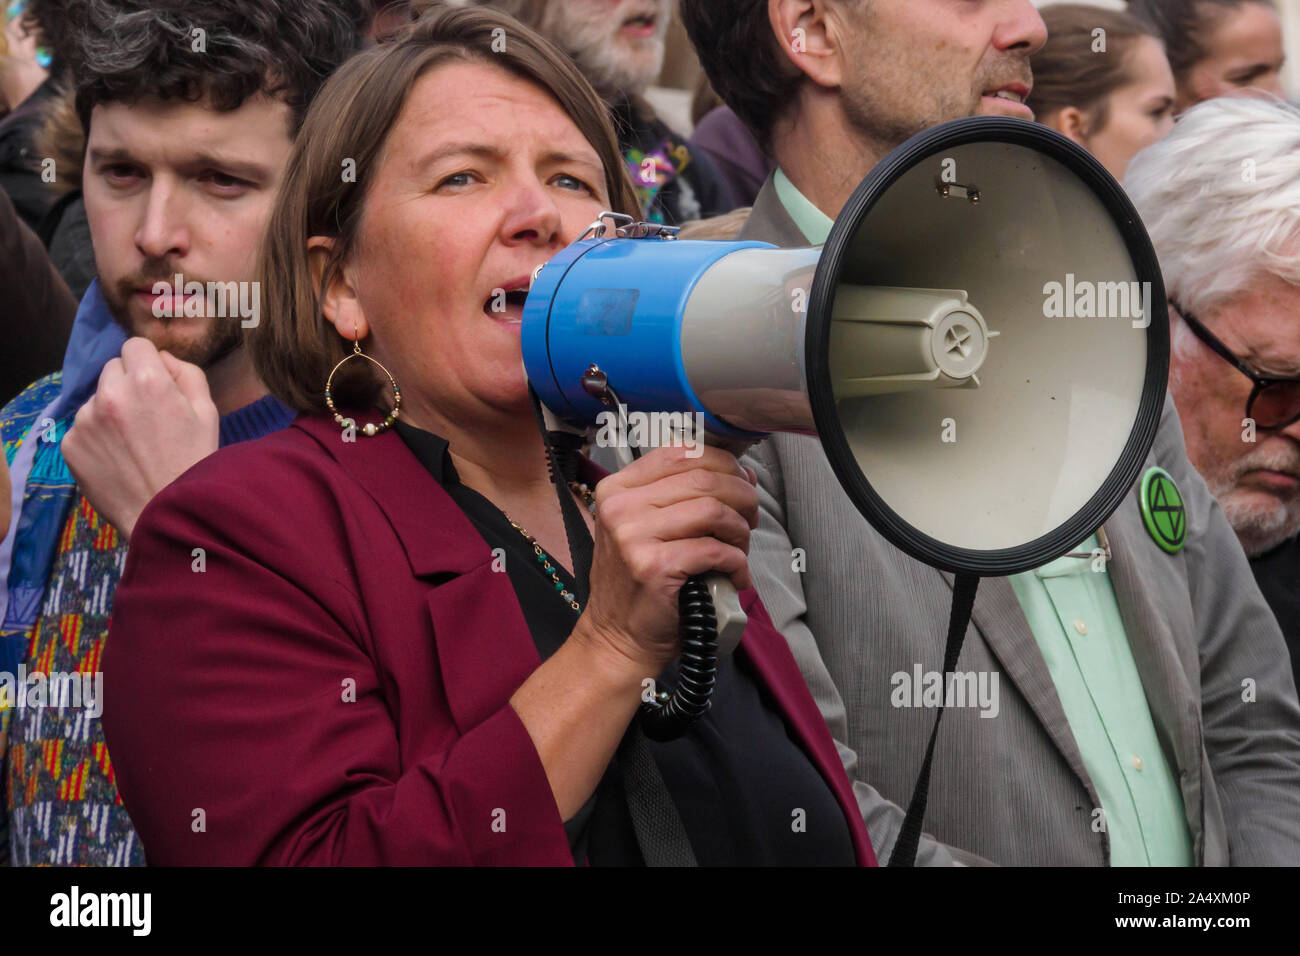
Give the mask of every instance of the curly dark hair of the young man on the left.
M 325 79 L 361 48 L 372 0 L 78 0 L 62 47 L 90 129 L 100 103 L 207 100 L 238 109 L 265 92 L 290 133 Z M 199 33 L 202 31 L 202 33 Z

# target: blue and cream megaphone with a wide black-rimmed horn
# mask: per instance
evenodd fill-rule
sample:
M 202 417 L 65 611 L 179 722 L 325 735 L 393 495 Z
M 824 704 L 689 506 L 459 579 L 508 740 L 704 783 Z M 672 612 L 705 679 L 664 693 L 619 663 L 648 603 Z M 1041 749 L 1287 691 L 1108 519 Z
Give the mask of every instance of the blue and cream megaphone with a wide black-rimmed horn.
M 616 397 L 723 444 L 815 434 L 885 538 L 959 575 L 1061 557 L 1138 477 L 1160 268 L 1121 186 L 1048 127 L 909 139 L 820 247 L 668 235 L 602 217 L 534 277 L 524 364 L 559 420 L 590 429 Z

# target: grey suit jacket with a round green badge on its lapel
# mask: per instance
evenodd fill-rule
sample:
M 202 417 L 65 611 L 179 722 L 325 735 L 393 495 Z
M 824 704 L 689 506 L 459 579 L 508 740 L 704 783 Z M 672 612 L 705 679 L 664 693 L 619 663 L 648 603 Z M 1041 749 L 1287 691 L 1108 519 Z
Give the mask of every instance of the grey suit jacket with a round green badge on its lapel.
M 771 179 L 741 238 L 807 245 Z M 918 663 L 941 670 L 952 575 L 876 533 L 815 438 L 774 436 L 746 462 L 758 472 L 762 503 L 750 544 L 755 585 L 841 745 L 883 862 L 935 719 L 930 708 L 894 708 L 890 675 Z M 1143 470 L 1153 464 L 1183 494 L 1187 544 L 1167 554 L 1152 541 L 1135 488 L 1105 525 L 1106 571 L 1182 788 L 1195 858 L 1297 865 L 1300 705 L 1287 649 L 1232 529 L 1187 460 L 1171 401 Z M 802 571 L 796 548 L 805 553 Z M 1001 865 L 1108 864 L 1104 814 L 1095 813 L 1101 803 L 1005 578 L 980 583 L 958 670 L 997 672 L 1000 710 L 993 718 L 976 708 L 945 713 L 926 830 Z M 923 843 L 919 864 L 949 862 L 935 840 Z

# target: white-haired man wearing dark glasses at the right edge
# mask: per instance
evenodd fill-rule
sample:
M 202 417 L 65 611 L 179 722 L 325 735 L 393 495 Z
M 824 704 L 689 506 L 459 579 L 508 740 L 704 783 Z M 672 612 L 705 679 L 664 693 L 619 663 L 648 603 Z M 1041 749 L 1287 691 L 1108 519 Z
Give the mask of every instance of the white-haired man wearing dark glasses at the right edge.
M 1300 682 L 1300 112 L 1216 99 L 1124 179 L 1170 299 L 1187 455 L 1251 559 Z

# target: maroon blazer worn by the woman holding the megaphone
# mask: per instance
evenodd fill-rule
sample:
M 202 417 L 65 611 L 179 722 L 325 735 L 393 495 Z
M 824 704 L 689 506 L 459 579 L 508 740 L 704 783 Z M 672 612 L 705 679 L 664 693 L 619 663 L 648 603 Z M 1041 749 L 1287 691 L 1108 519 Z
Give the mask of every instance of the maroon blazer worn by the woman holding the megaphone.
M 393 432 L 299 418 L 140 515 L 104 732 L 151 864 L 572 865 L 510 697 L 541 665 L 510 579 Z M 835 743 L 753 591 L 737 653 L 875 865 Z

